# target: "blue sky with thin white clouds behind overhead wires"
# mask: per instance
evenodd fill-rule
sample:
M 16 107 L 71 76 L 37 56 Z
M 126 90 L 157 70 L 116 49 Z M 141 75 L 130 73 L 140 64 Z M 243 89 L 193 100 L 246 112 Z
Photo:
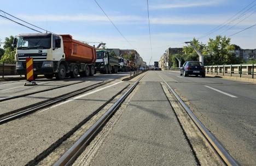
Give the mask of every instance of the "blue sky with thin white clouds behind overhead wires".
M 0 0 L 1 10 L 18 16 L 39 27 L 57 34 L 71 34 L 74 39 L 107 43 L 108 48 L 134 48 L 147 63 L 151 57 L 148 33 L 147 1 L 145 0 L 97 0 L 110 19 L 116 24 L 127 43 L 107 20 L 94 0 L 85 1 L 6 1 Z M 181 42 L 199 38 L 209 30 L 234 16 L 252 0 L 149 0 L 150 26 L 152 32 L 153 58 L 159 60 L 167 47 L 182 47 Z M 255 6 L 253 6 L 255 5 Z M 256 23 L 256 2 L 240 19 L 247 19 L 227 30 L 230 35 Z M 253 13 L 255 12 L 255 13 Z M 230 26 L 229 26 L 230 27 Z M 224 27 L 200 41 L 207 43 L 229 28 Z M 242 48 L 256 48 L 256 27 L 232 36 L 232 44 Z M 0 18 L 0 39 L 32 30 Z M 93 44 L 91 44 L 93 45 Z

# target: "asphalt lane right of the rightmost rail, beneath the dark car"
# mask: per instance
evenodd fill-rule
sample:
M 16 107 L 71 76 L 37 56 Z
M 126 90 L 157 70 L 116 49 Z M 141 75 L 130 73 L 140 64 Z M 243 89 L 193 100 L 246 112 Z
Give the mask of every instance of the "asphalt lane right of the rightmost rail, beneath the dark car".
M 215 77 L 160 76 L 241 165 L 256 163 L 256 84 Z

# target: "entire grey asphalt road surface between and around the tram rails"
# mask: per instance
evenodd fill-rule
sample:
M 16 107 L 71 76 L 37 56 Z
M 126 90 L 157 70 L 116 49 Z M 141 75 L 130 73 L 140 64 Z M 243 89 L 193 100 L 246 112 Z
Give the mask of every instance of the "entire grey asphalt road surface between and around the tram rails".
M 130 73 L 77 79 L 0 83 L 0 99 L 77 83 L 0 102 L 0 114 L 89 85 L 115 79 L 72 100 L 0 125 L 0 165 L 25 165 L 69 133 L 95 110 L 132 84 Z M 256 84 L 178 72 L 143 73 L 135 90 L 73 165 L 198 165 L 188 137 L 162 87 L 162 79 L 241 165 L 256 163 Z

